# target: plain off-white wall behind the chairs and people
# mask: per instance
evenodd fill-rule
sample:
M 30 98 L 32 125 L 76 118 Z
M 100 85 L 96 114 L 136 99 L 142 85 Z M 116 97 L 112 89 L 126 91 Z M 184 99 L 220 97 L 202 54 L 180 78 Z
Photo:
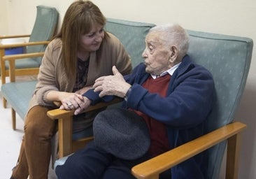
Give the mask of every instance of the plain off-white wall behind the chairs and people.
M 92 0 L 106 17 L 164 24 L 178 22 L 185 29 L 209 31 L 218 34 L 246 36 L 256 42 L 256 1 L 255 0 Z M 66 8 L 73 0 L 1 0 L 0 34 L 30 33 L 36 15 L 36 6 L 55 6 L 60 21 Z M 7 10 L 4 10 L 6 7 Z M 6 18 L 3 20 L 3 18 Z M 256 178 L 256 57 L 253 59 L 236 120 L 248 124 L 243 133 L 239 178 Z M 222 177 L 221 177 L 222 178 Z

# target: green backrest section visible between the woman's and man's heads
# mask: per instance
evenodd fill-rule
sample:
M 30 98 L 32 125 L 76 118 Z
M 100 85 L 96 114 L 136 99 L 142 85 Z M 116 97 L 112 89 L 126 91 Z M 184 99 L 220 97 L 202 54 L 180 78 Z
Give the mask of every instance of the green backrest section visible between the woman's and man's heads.
M 125 45 L 125 49 L 131 56 L 131 64 L 135 67 L 140 62 L 143 62 L 141 55 L 145 49 L 145 35 L 154 26 L 155 24 L 150 23 L 108 18 L 105 28 L 106 31 L 117 36 L 122 44 Z

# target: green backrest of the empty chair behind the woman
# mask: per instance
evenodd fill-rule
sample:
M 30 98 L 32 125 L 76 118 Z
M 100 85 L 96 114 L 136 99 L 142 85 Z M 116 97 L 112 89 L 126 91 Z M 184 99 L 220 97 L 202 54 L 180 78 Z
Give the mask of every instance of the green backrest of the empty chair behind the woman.
M 47 6 L 36 6 L 36 21 L 31 31 L 29 42 L 50 41 L 55 34 L 59 13 L 56 8 Z M 27 46 L 27 53 L 43 52 L 46 45 Z M 34 58 L 41 64 L 42 57 Z

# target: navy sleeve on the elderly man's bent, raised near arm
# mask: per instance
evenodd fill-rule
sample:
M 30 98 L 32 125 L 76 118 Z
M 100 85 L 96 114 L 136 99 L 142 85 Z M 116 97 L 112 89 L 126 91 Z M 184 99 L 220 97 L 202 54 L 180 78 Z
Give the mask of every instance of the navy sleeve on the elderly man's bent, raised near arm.
M 211 111 L 214 83 L 206 69 L 197 66 L 183 75 L 173 76 L 166 97 L 152 94 L 137 83 L 131 86 L 127 107 L 165 124 L 185 129 L 206 119 Z

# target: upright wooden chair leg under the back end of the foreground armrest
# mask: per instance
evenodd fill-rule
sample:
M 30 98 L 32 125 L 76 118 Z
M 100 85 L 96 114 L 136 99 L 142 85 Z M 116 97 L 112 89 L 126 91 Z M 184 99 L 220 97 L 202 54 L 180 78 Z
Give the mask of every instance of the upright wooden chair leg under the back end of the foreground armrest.
M 237 179 L 239 170 L 239 153 L 241 149 L 241 133 L 227 140 L 226 179 Z

